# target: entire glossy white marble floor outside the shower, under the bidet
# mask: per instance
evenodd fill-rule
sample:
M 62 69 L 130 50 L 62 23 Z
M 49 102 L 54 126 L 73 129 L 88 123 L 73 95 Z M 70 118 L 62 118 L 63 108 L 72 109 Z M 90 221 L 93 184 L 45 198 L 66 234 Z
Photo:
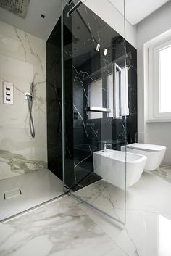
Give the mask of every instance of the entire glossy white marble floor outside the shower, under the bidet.
M 104 205 L 107 212 L 115 210 L 120 216 L 123 210 L 120 191 L 110 188 L 106 181 L 93 183 L 77 193 L 97 207 Z M 2 256 L 158 256 L 167 251 L 170 255 L 170 193 L 169 181 L 144 172 L 140 181 L 127 190 L 125 227 L 65 196 L 2 223 L 0 253 Z

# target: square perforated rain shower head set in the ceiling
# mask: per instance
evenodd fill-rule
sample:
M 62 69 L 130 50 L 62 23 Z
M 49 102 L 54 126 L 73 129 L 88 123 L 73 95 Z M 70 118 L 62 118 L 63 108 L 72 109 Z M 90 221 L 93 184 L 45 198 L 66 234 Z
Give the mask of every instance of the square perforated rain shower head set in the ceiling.
M 0 7 L 25 18 L 30 0 L 0 0 Z

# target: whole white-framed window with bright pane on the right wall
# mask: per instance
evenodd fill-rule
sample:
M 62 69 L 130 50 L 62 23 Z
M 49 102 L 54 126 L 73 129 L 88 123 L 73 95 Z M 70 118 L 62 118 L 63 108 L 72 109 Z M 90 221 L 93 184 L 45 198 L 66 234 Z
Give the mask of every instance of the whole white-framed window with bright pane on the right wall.
M 149 47 L 149 119 L 171 118 L 171 40 Z

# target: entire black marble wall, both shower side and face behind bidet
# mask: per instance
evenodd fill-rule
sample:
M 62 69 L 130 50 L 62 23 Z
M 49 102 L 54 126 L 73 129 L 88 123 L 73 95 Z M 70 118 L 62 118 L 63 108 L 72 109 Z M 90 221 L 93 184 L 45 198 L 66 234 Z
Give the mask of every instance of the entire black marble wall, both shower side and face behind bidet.
M 137 132 L 136 50 L 122 36 L 81 4 L 70 16 L 64 9 L 64 109 L 65 170 L 67 187 L 78 189 L 99 180 L 93 173 L 93 152 L 135 142 Z M 61 45 L 60 20 L 47 42 L 47 107 L 49 169 L 62 178 L 61 128 Z M 96 51 L 97 44 L 100 50 Z M 104 56 L 104 49 L 107 55 Z M 127 56 L 127 58 L 126 58 Z M 128 66 L 128 99 L 130 115 L 116 119 L 107 113 L 91 118 L 91 83 L 101 79 L 101 107 L 107 107 L 107 76 L 112 65 Z M 93 106 L 95 107 L 95 106 Z M 126 139 L 126 141 L 125 141 Z

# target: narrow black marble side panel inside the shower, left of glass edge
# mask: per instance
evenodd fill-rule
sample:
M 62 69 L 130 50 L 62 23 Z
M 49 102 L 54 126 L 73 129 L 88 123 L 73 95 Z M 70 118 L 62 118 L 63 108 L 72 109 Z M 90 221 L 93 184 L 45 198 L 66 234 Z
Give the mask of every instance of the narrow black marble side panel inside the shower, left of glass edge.
M 46 43 L 48 168 L 62 179 L 61 20 Z

